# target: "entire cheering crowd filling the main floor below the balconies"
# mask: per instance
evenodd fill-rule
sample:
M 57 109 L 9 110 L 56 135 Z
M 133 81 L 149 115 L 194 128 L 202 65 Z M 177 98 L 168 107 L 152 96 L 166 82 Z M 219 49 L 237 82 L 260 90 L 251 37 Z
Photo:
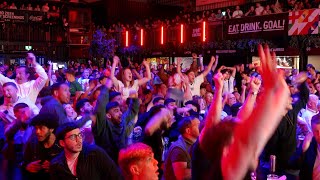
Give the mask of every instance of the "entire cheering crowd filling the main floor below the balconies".
M 204 66 L 193 53 L 183 70 L 182 59 L 151 69 L 114 56 L 106 67 L 72 61 L 53 71 L 30 52 L 27 66 L 0 67 L 1 173 L 295 179 L 298 170 L 319 179 L 320 73 L 311 64 L 307 73 L 279 70 L 268 47 L 258 50 L 259 67 L 217 67 L 218 56 Z

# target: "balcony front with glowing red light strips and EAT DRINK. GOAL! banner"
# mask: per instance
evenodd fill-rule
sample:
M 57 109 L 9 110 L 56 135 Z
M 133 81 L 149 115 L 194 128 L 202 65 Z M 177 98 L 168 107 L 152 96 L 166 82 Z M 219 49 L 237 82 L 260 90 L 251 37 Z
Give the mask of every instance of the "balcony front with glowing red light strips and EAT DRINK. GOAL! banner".
M 244 17 L 238 19 L 205 20 L 199 23 L 178 23 L 171 26 L 158 25 L 141 30 L 128 30 L 128 44 L 144 48 L 158 49 L 162 45 L 172 44 L 174 47 L 191 46 L 193 43 L 222 42 L 230 39 L 276 39 L 288 36 L 288 13 Z M 205 22 L 205 24 L 204 24 Z M 183 25 L 183 27 L 181 26 Z M 163 32 L 161 30 L 163 27 Z M 183 32 L 181 32 L 183 28 Z M 125 47 L 125 31 L 107 32 L 109 37 L 115 38 L 117 45 Z M 163 37 L 161 44 L 161 37 Z

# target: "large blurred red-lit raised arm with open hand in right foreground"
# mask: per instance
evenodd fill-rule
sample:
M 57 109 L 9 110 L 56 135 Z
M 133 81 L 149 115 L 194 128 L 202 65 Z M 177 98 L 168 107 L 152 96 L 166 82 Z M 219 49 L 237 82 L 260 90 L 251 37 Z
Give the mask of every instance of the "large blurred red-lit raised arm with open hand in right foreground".
M 242 179 L 245 176 L 252 160 L 256 154 L 261 153 L 286 113 L 289 89 L 283 74 L 278 73 L 268 47 L 264 51 L 259 45 L 259 55 L 264 92 L 255 111 L 235 127 L 234 141 L 229 151 L 222 155 L 221 169 L 223 179 L 226 180 Z

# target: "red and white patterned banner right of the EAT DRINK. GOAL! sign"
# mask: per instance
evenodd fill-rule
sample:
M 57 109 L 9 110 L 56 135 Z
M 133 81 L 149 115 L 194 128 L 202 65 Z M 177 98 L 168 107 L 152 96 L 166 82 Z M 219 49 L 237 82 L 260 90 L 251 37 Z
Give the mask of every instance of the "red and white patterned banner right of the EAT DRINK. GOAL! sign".
M 289 13 L 289 36 L 319 34 L 320 9 L 307 9 Z

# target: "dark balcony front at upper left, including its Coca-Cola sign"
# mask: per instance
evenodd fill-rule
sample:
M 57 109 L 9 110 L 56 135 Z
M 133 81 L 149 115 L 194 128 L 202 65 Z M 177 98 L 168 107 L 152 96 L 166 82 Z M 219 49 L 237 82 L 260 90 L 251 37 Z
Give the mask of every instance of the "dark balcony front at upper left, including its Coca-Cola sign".
M 0 41 L 67 42 L 67 29 L 55 22 L 60 21 L 48 21 L 43 12 L 0 9 Z

